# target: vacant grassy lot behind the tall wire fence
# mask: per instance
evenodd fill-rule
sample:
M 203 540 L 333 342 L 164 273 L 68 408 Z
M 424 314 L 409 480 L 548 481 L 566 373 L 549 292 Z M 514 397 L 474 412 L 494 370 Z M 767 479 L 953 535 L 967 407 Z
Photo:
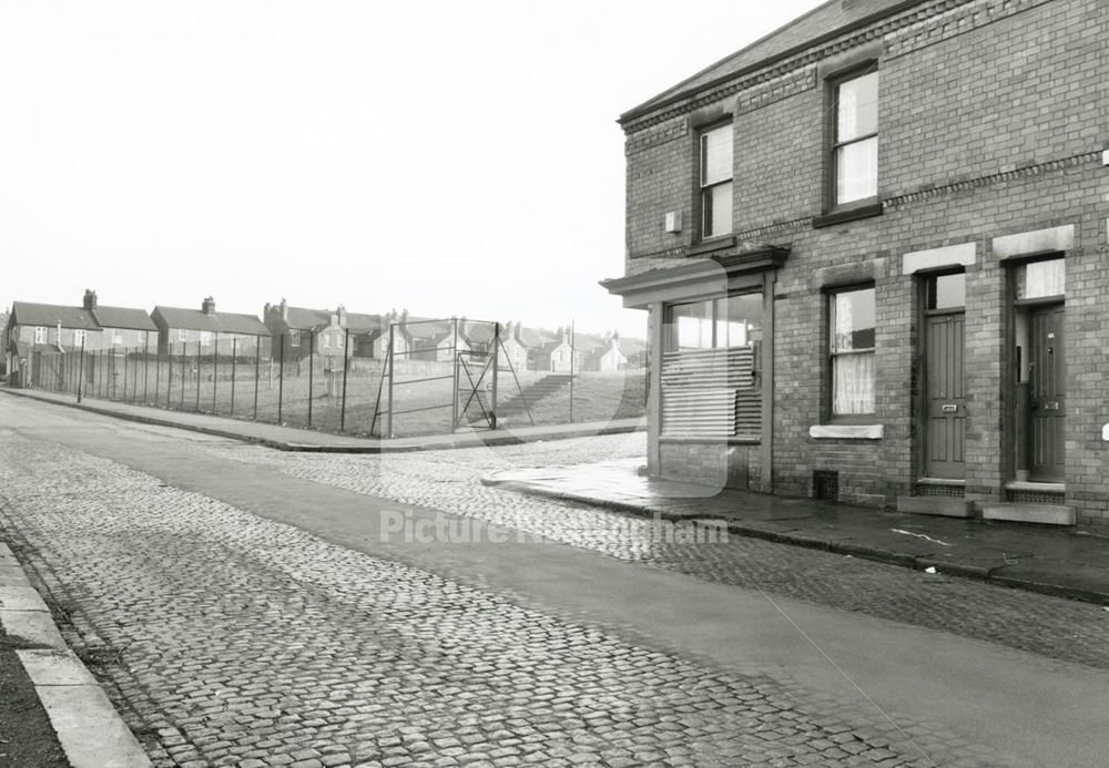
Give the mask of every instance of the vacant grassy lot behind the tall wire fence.
M 449 432 L 455 423 L 481 427 L 492 407 L 492 372 L 480 361 L 404 361 L 393 386 L 380 360 L 317 357 L 269 359 L 87 356 L 54 359 L 43 389 L 173 410 L 200 411 L 352 434 L 395 437 Z M 642 416 L 645 371 L 579 373 L 571 387 L 537 387 L 548 373 L 501 369 L 497 376 L 500 426 L 560 424 Z M 452 393 L 457 399 L 452 400 Z M 507 407 L 506 407 L 507 406 Z M 391 412 L 391 420 L 390 420 Z

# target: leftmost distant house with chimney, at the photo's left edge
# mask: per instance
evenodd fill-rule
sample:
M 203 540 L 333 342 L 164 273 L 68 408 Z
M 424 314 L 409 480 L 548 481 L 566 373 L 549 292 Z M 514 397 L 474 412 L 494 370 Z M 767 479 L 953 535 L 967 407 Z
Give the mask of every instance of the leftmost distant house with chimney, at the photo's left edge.
M 3 331 L 8 381 L 31 386 L 37 352 L 150 349 L 156 334 L 145 309 L 100 306 L 94 290 L 84 291 L 80 307 L 14 301 Z

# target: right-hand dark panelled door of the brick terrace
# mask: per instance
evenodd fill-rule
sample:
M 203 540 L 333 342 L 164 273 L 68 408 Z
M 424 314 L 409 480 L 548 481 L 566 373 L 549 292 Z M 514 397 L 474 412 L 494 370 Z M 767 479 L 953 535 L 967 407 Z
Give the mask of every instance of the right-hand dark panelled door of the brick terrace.
M 1062 318 L 1062 305 L 1035 309 L 1028 318 L 1031 342 L 1029 479 L 1038 482 L 1062 482 L 1066 474 L 1067 361 Z

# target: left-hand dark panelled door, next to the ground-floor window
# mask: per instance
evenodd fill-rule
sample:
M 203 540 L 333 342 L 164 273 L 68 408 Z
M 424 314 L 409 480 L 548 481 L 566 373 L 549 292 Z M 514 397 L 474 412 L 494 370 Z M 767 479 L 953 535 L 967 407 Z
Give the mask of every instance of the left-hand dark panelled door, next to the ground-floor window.
M 925 328 L 928 427 L 924 472 L 929 478 L 960 479 L 966 477 L 964 315 L 929 315 Z

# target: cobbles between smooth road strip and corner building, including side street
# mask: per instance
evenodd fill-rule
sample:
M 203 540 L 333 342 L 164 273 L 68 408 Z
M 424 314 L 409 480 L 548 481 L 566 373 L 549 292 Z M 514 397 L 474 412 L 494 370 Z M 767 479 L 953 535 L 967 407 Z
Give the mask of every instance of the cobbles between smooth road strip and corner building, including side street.
M 642 433 L 384 457 L 284 453 L 226 444 L 196 450 L 480 518 L 622 560 L 1109 669 L 1109 612 L 1096 605 L 756 539 L 668 544 L 653 530 L 654 521 L 526 496 L 478 481 L 491 470 L 643 455 Z

